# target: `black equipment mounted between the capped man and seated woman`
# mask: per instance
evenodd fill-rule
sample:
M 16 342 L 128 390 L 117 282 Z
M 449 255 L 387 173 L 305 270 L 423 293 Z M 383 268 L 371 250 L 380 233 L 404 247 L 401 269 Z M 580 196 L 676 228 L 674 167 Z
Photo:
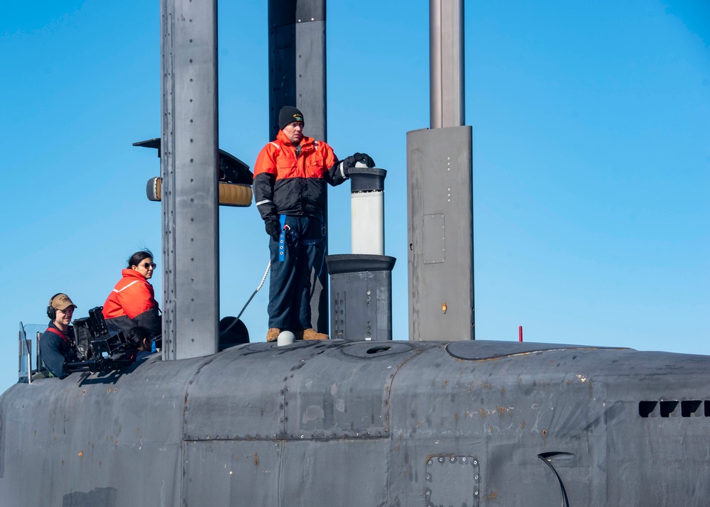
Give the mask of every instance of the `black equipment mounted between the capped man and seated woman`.
M 67 362 L 67 370 L 74 371 L 113 371 L 133 363 L 132 359 L 114 359 L 114 356 L 126 352 L 129 344 L 123 331 L 109 331 L 103 307 L 89 310 L 89 317 L 74 320 L 77 357 L 79 361 Z

